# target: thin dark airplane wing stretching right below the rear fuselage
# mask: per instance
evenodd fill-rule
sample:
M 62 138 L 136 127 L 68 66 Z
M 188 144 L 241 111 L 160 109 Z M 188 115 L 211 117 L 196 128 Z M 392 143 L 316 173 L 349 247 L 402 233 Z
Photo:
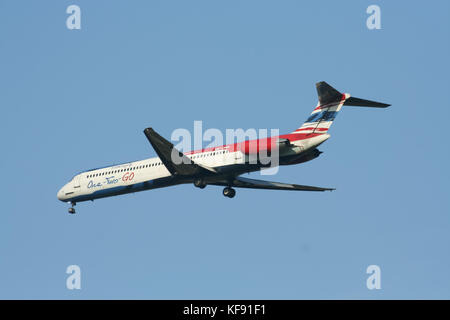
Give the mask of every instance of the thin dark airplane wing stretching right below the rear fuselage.
M 274 181 L 256 180 L 243 177 L 236 177 L 231 182 L 228 181 L 214 181 L 208 184 L 217 186 L 231 186 L 236 188 L 250 188 L 250 189 L 269 189 L 269 190 L 295 190 L 295 191 L 332 191 L 334 188 L 321 188 L 313 186 L 303 186 L 292 183 L 282 183 Z

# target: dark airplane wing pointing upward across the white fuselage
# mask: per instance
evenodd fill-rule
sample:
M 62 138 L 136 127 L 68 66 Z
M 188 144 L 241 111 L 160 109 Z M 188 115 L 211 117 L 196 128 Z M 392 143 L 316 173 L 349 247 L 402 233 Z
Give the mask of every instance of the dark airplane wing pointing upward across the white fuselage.
M 152 128 L 145 129 L 144 134 L 171 174 L 194 176 L 216 173 L 213 168 L 194 163 Z

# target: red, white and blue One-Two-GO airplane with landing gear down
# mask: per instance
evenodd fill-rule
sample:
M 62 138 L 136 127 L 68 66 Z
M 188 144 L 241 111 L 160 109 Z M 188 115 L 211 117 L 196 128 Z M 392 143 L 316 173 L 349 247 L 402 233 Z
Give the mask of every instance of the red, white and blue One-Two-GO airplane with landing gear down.
M 234 188 L 335 190 L 241 177 L 244 173 L 268 166 L 258 160 L 258 156 L 256 161 L 250 161 L 255 159 L 255 154 L 260 154 L 262 148 L 266 148 L 268 154 L 275 150 L 278 152 L 278 165 L 294 165 L 317 158 L 322 153 L 317 147 L 330 137 L 328 130 L 343 106 L 390 106 L 340 93 L 324 81 L 316 83 L 316 89 L 319 97 L 317 106 L 305 123 L 291 133 L 265 138 L 266 141 L 246 140 L 181 153 L 155 130 L 146 128 L 144 134 L 158 157 L 83 171 L 58 191 L 57 198 L 69 202 L 69 213 L 74 214 L 77 202 L 187 183 L 200 189 L 207 185 L 223 186 L 223 195 L 228 198 L 235 196 Z M 174 161 L 173 155 L 179 157 L 177 161 Z

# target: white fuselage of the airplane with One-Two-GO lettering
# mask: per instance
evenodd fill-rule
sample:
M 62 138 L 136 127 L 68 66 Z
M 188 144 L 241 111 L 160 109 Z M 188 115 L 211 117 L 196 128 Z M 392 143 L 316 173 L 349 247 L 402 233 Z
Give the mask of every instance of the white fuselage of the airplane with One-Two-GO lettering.
M 293 141 L 294 147 L 285 150 L 280 154 L 280 158 L 306 152 L 328 137 L 328 134 L 322 134 Z M 248 165 L 251 156 L 240 150 L 235 151 L 228 145 L 185 155 L 199 165 L 217 169 L 217 176 L 239 175 L 262 167 L 262 165 Z M 183 180 L 173 176 L 160 158 L 154 157 L 81 172 L 58 191 L 57 197 L 61 201 L 75 203 L 190 182 L 192 179 Z

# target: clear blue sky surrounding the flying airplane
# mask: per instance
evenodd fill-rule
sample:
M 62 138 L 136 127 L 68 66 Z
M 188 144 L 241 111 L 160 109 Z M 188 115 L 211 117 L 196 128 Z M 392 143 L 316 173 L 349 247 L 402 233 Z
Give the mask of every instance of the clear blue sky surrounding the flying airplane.
M 2 0 L 0 298 L 449 299 L 449 18 L 448 1 Z M 56 199 L 154 156 L 148 126 L 290 132 L 322 80 L 392 107 L 344 109 L 318 159 L 265 178 L 335 192 L 184 185 L 74 216 Z

